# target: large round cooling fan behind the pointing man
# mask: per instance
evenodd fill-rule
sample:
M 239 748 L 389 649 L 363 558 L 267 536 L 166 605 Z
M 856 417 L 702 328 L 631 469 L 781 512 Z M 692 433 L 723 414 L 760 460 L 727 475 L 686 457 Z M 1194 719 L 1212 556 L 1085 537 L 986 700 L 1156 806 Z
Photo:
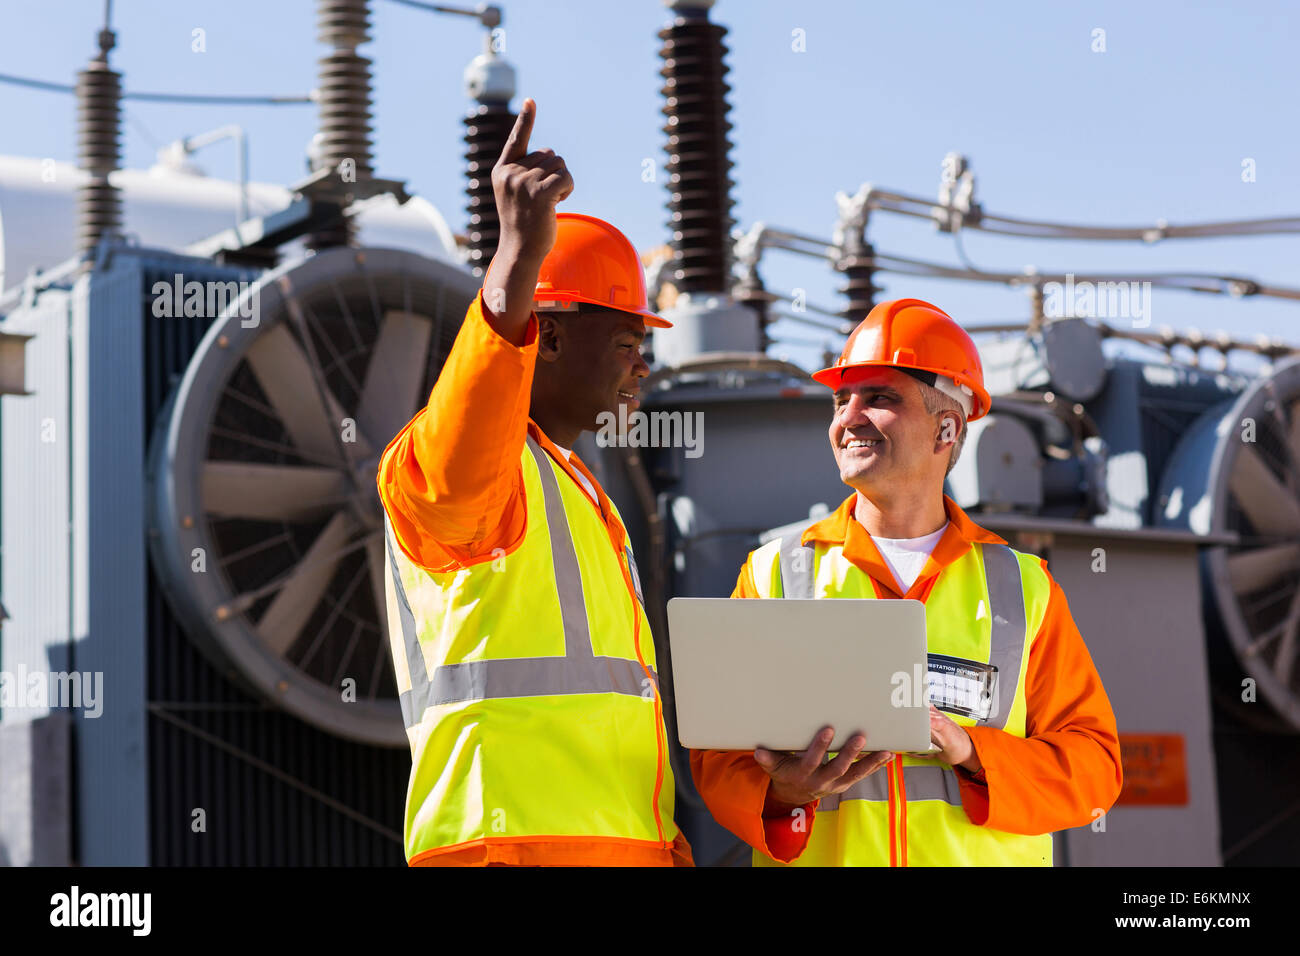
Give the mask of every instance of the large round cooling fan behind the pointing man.
M 266 273 L 213 321 L 152 438 L 150 550 L 186 632 L 228 676 L 343 737 L 407 743 L 374 476 L 477 289 L 391 250 Z

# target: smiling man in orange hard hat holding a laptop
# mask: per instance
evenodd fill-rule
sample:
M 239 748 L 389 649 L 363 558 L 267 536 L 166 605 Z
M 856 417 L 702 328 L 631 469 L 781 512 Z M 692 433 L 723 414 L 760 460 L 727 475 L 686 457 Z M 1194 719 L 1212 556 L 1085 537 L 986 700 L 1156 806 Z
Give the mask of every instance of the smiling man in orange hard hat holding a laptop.
M 989 410 L 975 343 L 928 302 L 883 302 L 812 377 L 835 393 L 831 450 L 853 494 L 751 551 L 732 597 L 924 602 L 937 752 L 868 752 L 863 727 L 827 760 L 826 727 L 796 754 L 692 752 L 696 786 L 755 865 L 1049 866 L 1052 832 L 1118 797 L 1119 743 L 1046 562 L 942 492 L 966 423 Z

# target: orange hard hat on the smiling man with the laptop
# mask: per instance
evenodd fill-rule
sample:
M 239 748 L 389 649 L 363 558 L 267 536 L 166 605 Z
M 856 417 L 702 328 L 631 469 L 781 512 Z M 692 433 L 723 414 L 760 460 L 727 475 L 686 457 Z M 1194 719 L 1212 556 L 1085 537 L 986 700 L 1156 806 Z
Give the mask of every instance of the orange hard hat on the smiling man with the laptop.
M 837 389 L 846 368 L 864 365 L 897 368 L 927 385 L 935 385 L 940 376 L 949 378 L 954 390 L 972 399 L 967 421 L 988 414 L 992 399 L 984 388 L 984 367 L 975 342 L 952 316 L 928 302 L 881 302 L 858 323 L 840 359 L 831 368 L 814 372 L 812 378 Z

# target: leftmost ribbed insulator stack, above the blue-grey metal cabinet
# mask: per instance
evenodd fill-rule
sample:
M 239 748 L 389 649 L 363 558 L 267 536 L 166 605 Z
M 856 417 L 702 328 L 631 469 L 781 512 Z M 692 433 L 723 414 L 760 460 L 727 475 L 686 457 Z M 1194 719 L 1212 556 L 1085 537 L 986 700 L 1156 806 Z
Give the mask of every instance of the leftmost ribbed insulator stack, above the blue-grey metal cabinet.
M 122 226 L 122 200 L 108 181 L 121 164 L 122 74 L 109 69 L 112 30 L 99 34 L 99 56 L 77 74 L 77 156 L 87 181 L 77 193 L 77 250 L 92 252 Z

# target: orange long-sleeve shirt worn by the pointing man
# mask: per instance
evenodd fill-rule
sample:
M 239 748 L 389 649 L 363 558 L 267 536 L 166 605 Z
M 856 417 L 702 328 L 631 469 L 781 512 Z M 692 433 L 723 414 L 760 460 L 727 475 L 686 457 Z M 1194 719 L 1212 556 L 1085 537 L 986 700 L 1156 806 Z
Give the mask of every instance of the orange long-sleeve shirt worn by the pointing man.
M 578 472 L 597 490 L 592 507 L 607 515 L 611 537 L 623 540 L 614 509 L 595 476 L 575 454 L 569 459 L 529 418 L 537 363 L 537 316 L 529 316 L 523 346 L 502 338 L 488 319 L 482 293 L 433 386 L 429 403 L 389 444 L 380 462 L 380 498 L 398 546 L 428 571 L 450 571 L 491 561 L 524 538 L 524 473 L 520 457 L 528 434 L 569 479 Z M 590 494 L 582 488 L 590 499 Z M 612 546 L 612 545 L 611 545 Z M 499 551 L 498 551 L 499 553 Z M 545 786 L 545 782 L 538 782 Z M 690 866 L 690 845 L 677 835 L 654 849 L 592 840 L 478 844 L 441 852 L 437 865 L 645 865 Z

